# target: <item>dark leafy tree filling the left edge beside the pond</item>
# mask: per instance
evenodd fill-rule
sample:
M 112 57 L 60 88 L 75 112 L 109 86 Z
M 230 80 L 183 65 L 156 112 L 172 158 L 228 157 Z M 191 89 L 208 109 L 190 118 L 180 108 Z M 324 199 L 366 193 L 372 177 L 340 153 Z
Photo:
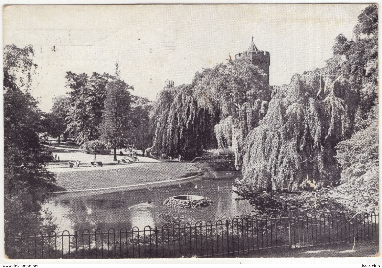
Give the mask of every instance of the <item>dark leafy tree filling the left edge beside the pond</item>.
M 41 229 L 41 204 L 55 189 L 55 176 L 44 169 L 38 133 L 41 112 L 31 96 L 30 85 L 37 67 L 32 46 L 4 48 L 4 215 L 5 231 Z M 21 87 L 21 88 L 20 88 Z M 48 213 L 49 214 L 49 213 Z M 54 226 L 47 226 L 47 228 Z

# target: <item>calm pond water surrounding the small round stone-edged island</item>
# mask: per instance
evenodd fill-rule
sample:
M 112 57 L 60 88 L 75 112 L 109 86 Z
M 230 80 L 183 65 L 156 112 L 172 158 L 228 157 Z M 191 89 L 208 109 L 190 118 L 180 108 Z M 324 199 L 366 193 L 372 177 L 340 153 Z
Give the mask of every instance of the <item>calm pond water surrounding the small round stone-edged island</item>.
M 236 201 L 238 195 L 230 191 L 233 181 L 238 177 L 241 177 L 241 172 L 207 172 L 192 181 L 179 181 L 172 185 L 158 184 L 108 193 L 57 194 L 51 197 L 44 208 L 49 208 L 53 217 L 57 217 L 57 231 L 68 230 L 70 233 L 93 228 L 117 230 L 137 226 L 141 230 L 147 225 L 161 227 L 166 221 L 159 217 L 159 213 L 182 216 L 185 222 L 214 222 L 220 215 L 230 218 L 251 212 L 248 201 Z M 167 197 L 183 194 L 207 197 L 212 204 L 195 209 L 163 205 Z

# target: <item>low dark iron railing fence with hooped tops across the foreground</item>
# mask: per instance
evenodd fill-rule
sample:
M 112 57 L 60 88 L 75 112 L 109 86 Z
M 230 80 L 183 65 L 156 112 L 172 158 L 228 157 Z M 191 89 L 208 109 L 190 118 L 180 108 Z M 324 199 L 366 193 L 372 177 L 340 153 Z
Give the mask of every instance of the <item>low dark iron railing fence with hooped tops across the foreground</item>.
M 81 233 L 40 232 L 6 235 L 5 252 L 13 259 L 179 258 L 237 256 L 277 247 L 312 247 L 379 238 L 379 215 L 241 218 L 193 225 L 146 226 L 128 231 L 110 228 Z

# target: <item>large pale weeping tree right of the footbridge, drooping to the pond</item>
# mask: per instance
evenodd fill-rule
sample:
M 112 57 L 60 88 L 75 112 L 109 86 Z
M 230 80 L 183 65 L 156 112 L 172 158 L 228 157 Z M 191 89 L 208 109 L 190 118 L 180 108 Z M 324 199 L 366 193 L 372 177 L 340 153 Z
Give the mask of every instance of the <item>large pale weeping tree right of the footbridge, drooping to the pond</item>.
M 325 71 L 294 75 L 277 88 L 262 124 L 245 140 L 244 181 L 282 191 L 309 186 L 313 178 L 316 187 L 338 183 L 333 156 L 350 136 L 353 108 L 345 99 L 352 89 L 340 71 L 322 77 Z

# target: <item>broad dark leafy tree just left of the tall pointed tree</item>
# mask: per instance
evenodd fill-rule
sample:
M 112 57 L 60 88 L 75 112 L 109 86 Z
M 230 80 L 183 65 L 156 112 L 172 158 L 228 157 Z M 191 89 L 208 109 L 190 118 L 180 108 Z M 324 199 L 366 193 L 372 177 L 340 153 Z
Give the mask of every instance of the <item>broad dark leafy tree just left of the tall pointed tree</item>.
M 99 125 L 106 97 L 106 85 L 113 79 L 106 73 L 87 74 L 66 72 L 66 87 L 70 88 L 70 108 L 67 112 L 66 133 L 77 137 L 77 143 L 96 140 L 100 137 Z

